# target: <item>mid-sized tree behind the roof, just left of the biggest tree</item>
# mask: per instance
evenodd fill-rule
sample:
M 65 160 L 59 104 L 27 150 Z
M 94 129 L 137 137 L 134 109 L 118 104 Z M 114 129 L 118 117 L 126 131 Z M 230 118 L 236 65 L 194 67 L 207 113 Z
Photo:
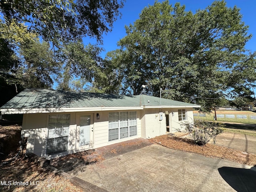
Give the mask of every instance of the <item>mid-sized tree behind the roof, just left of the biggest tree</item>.
M 57 59 L 63 64 L 58 89 L 72 89 L 70 84 L 73 78 L 82 79 L 83 84 L 85 82 L 92 83 L 102 62 L 102 58 L 99 56 L 101 50 L 96 45 L 84 46 L 82 41 L 77 41 L 69 42 L 56 51 Z

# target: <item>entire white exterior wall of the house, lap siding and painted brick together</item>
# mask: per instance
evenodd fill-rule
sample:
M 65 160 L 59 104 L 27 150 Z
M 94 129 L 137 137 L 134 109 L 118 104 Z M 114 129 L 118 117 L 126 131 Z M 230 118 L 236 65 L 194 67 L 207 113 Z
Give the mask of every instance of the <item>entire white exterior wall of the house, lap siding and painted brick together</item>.
M 182 121 L 178 120 L 178 109 L 182 108 L 165 108 L 162 110 L 159 108 L 152 108 L 137 110 L 137 135 L 111 142 L 108 141 L 109 111 L 84 113 L 93 114 L 93 148 L 98 148 L 133 138 L 153 138 L 166 134 L 165 111 L 168 111 L 169 113 L 170 132 L 176 132 L 182 128 L 180 124 Z M 159 120 L 159 112 L 163 112 L 163 120 Z M 96 118 L 97 113 L 100 115 L 100 119 Z M 46 156 L 48 116 L 51 114 L 54 113 L 24 114 L 21 137 L 28 137 L 27 152 L 33 152 L 39 156 Z M 52 155 L 48 158 L 76 152 L 76 115 L 78 113 L 71 112 L 68 114 L 70 114 L 68 152 Z M 193 122 L 192 108 L 186 108 L 186 115 L 187 121 Z

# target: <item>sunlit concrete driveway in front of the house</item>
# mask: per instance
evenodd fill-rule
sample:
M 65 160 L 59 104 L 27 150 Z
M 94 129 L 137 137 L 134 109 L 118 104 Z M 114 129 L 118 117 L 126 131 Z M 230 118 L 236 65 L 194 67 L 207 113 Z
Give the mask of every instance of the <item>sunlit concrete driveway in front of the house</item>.
M 66 172 L 110 192 L 256 191 L 255 167 L 158 144 Z

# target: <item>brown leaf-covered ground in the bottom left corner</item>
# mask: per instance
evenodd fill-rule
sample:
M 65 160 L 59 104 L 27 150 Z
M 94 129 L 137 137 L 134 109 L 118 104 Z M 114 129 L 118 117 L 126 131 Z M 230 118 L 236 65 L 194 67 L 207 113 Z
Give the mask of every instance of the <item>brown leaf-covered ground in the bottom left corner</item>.
M 11 153 L 10 155 L 13 154 Z M 54 174 L 50 170 L 40 168 L 35 163 L 22 160 L 22 158 L 1 166 L 0 180 L 12 182 L 11 186 L 0 186 L 0 191 L 82 192 L 82 190 L 71 184 L 69 180 Z M 28 182 L 28 186 L 14 186 L 13 182 L 16 181 Z M 30 185 L 30 182 L 32 185 Z

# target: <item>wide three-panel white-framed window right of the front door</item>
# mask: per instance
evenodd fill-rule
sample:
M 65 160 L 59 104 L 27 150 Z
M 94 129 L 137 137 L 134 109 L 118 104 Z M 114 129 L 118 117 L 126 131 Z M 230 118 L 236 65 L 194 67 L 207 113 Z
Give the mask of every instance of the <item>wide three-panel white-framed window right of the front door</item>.
M 108 114 L 108 141 L 137 135 L 137 116 L 133 112 L 110 112 Z

